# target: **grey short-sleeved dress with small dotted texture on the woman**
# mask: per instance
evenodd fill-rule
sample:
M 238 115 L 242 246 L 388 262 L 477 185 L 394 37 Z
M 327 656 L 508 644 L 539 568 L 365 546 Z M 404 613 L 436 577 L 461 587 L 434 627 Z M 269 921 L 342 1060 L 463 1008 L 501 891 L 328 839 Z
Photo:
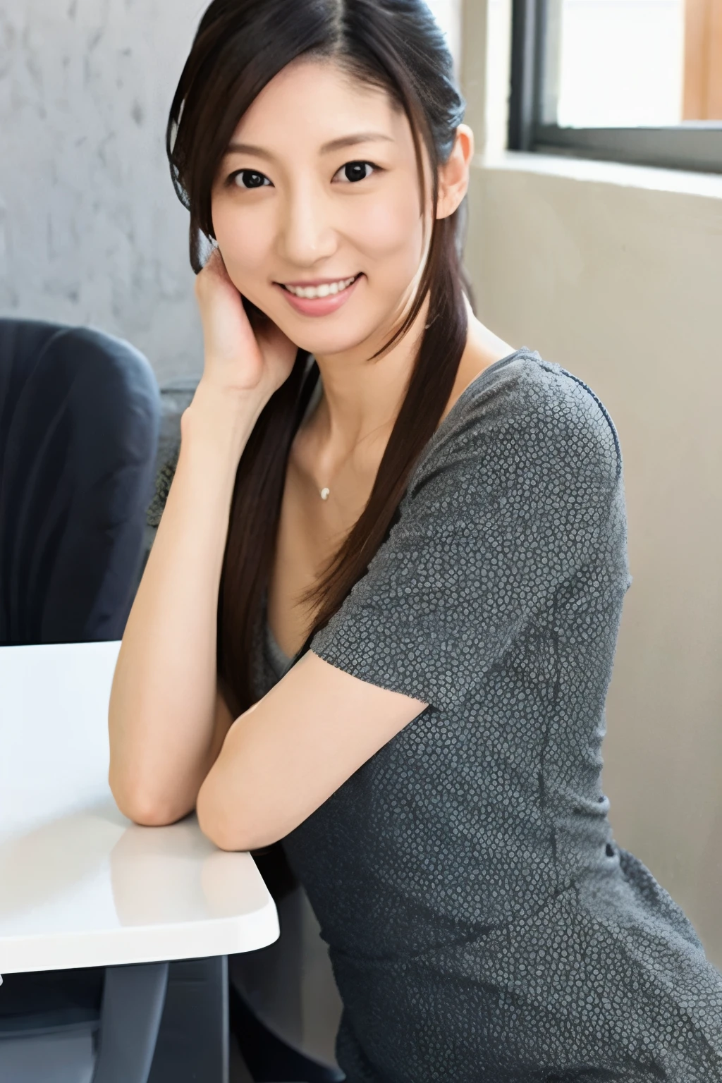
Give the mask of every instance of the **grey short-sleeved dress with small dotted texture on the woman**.
M 608 415 L 517 351 L 399 512 L 312 650 L 429 707 L 284 840 L 350 1083 L 722 1081 L 722 976 L 601 790 L 630 584 Z M 259 643 L 262 695 L 280 673 Z

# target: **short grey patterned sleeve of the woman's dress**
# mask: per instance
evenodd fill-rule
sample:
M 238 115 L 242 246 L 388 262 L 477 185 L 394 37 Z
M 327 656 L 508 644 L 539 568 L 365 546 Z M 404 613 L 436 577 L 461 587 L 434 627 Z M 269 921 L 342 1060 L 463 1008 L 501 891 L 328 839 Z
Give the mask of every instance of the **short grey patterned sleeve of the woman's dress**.
M 561 584 L 626 540 L 617 438 L 589 389 L 530 357 L 485 375 L 442 422 L 389 538 L 311 643 L 360 680 L 439 708 L 463 700 Z

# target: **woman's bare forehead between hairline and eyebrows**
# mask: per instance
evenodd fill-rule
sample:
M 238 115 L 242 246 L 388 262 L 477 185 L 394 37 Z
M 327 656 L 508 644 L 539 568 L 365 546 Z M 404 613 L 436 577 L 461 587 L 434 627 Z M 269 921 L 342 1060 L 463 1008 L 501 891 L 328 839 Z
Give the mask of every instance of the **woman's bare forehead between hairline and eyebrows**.
M 411 144 L 408 120 L 389 92 L 331 60 L 301 57 L 278 73 L 241 117 L 234 141 L 313 149 L 349 132 L 377 131 Z

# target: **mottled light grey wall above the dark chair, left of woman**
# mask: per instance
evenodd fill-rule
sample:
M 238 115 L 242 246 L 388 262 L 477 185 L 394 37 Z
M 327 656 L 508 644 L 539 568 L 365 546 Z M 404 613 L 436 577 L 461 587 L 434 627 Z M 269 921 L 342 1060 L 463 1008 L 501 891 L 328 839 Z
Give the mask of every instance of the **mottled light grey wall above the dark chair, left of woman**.
M 0 0 L 0 314 L 93 324 L 199 371 L 165 126 L 204 0 Z

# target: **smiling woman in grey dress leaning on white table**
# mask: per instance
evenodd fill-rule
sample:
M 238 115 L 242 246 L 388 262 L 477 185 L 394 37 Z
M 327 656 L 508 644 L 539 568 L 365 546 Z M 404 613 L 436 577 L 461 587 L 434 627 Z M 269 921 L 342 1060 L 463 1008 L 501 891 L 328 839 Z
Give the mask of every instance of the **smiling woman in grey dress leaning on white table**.
M 225 849 L 284 839 L 352 1083 L 720 1080 L 722 978 L 601 791 L 617 436 L 470 310 L 451 70 L 421 0 L 200 24 L 169 154 L 205 368 L 113 790 Z

